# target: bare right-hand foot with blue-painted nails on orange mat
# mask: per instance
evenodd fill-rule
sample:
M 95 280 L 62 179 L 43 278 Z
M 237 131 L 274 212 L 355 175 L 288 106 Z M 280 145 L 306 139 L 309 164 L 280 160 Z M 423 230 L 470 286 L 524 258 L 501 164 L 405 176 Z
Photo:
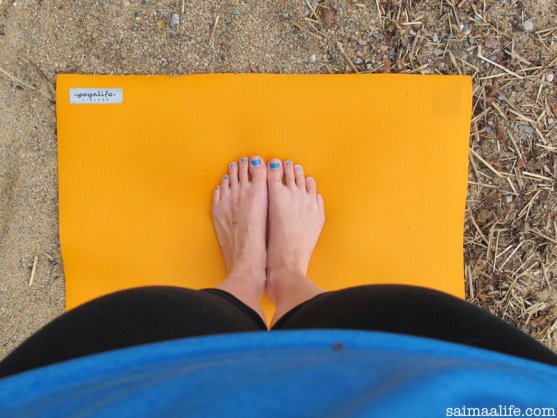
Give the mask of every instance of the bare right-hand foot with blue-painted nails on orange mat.
M 283 179 L 286 184 L 283 184 Z M 273 326 L 286 312 L 323 293 L 306 277 L 309 260 L 325 223 L 323 196 L 300 165 L 269 162 L 269 243 L 267 293 L 276 306 Z

